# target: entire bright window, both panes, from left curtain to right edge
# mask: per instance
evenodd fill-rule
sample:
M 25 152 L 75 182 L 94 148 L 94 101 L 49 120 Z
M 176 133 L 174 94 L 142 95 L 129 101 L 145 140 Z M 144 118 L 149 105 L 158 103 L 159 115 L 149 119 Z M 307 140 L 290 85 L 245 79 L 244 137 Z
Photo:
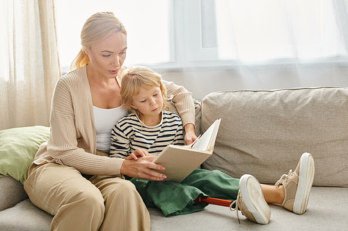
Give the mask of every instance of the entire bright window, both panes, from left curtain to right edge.
M 233 67 L 347 58 L 343 1 L 60 0 L 56 5 L 63 71 L 80 49 L 84 22 L 98 11 L 113 11 L 125 24 L 125 65 Z

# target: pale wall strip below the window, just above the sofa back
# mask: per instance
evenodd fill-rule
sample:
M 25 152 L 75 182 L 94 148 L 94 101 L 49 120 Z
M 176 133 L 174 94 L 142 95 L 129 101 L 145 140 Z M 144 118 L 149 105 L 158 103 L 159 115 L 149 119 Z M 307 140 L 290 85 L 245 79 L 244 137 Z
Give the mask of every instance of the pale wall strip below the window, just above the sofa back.
M 161 71 L 158 71 L 161 73 Z M 161 73 L 163 74 L 163 73 Z M 191 70 L 167 72 L 165 80 L 183 85 L 194 99 L 203 99 L 210 92 L 237 89 L 279 89 L 288 87 L 348 87 L 348 67 L 299 69 L 247 68 L 239 70 Z

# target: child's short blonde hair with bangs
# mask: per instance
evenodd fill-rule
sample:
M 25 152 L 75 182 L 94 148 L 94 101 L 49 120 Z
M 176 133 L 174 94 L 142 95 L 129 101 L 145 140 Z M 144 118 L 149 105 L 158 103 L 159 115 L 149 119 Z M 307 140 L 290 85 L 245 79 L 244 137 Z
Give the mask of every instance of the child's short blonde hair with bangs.
M 147 67 L 136 66 L 122 71 L 121 78 L 120 94 L 123 100 L 123 105 L 131 112 L 134 112 L 138 117 L 141 118 L 141 112 L 132 108 L 131 105 L 133 103 L 133 97 L 139 94 L 142 87 L 145 89 L 159 87 L 163 98 L 162 110 L 169 109 L 169 99 L 167 97 L 166 87 L 162 83 L 160 74 L 157 74 L 155 71 L 152 71 Z

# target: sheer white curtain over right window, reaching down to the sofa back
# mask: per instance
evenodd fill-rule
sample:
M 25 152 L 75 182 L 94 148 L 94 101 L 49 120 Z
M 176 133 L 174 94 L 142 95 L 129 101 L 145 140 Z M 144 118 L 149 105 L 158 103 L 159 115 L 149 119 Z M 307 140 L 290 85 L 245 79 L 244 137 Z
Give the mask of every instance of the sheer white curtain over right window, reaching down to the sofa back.
M 176 56 L 182 64 L 164 78 L 196 99 L 225 90 L 348 87 L 347 0 L 187 0 L 183 8 L 175 26 L 185 28 Z

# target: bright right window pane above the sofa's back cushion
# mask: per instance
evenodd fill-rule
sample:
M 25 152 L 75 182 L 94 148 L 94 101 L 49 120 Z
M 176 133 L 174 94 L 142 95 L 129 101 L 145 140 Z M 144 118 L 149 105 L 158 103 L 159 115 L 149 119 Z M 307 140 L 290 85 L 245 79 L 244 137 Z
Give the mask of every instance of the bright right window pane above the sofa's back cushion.
M 188 1 L 188 8 L 192 61 L 266 62 L 347 55 L 332 1 L 201 0 Z

